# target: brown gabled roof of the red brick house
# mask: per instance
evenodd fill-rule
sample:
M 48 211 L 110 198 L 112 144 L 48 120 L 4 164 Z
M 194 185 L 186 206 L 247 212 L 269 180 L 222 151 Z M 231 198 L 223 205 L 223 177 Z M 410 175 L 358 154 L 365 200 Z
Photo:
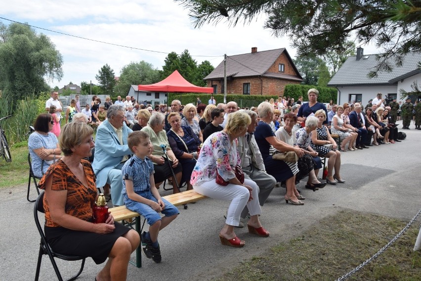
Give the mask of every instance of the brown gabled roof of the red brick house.
M 297 73 L 296 76 L 267 73 L 267 70 L 275 63 L 276 59 L 282 53 L 285 53 L 287 58 L 290 60 L 291 65 L 294 67 L 294 70 Z M 234 78 L 250 76 L 267 76 L 297 81 L 303 80 L 302 77 L 299 75 L 299 72 L 296 69 L 293 60 L 291 59 L 290 55 L 288 54 L 285 48 L 227 56 L 226 73 L 227 77 L 232 76 Z M 221 78 L 224 78 L 223 60 L 207 77 L 205 77 L 205 80 Z

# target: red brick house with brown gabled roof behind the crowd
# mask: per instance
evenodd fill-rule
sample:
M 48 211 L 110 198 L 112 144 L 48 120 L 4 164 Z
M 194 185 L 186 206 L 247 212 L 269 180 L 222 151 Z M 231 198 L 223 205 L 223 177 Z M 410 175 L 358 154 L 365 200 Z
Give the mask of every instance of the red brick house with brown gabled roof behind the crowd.
M 303 79 L 285 48 L 227 56 L 227 94 L 284 95 L 286 84 L 299 84 Z M 213 93 L 223 93 L 224 61 L 207 77 Z

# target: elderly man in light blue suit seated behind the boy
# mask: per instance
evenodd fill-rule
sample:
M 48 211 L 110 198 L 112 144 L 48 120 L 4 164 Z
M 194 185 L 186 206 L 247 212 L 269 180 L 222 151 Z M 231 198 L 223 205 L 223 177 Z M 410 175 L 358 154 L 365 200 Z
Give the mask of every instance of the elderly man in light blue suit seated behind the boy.
M 111 185 L 111 198 L 114 206 L 123 205 L 123 164 L 129 159 L 131 151 L 127 136 L 132 132 L 124 121 L 125 109 L 121 105 L 108 108 L 107 119 L 96 131 L 95 155 L 92 168 L 96 185 Z

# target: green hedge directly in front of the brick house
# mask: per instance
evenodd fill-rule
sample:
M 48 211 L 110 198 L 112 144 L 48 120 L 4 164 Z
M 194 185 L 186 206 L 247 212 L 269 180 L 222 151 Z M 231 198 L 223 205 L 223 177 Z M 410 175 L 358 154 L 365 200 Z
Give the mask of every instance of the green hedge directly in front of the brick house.
M 196 105 L 197 97 L 200 98 L 202 103 L 208 104 L 209 99 L 211 98 L 211 94 L 204 94 L 204 93 L 168 93 L 168 104 L 175 99 L 179 100 L 181 104 L 186 105 L 188 103 L 193 103 Z M 213 98 L 216 101 L 216 104 L 224 102 L 224 95 L 223 94 L 214 94 Z M 278 99 L 278 96 L 269 96 L 269 95 L 235 95 L 235 94 L 227 94 L 227 102 L 235 101 L 239 107 L 252 107 L 258 106 L 261 102 L 270 100 L 273 98 L 275 101 Z

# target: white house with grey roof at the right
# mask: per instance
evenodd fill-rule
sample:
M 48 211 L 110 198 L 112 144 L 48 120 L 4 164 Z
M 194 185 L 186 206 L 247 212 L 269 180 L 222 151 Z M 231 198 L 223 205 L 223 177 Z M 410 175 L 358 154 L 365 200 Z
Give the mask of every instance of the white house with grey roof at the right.
M 405 55 L 401 67 L 394 66 L 391 72 L 379 72 L 376 78 L 368 78 L 370 71 L 379 63 L 376 55 L 364 55 L 362 48 L 357 48 L 357 55 L 349 57 L 339 68 L 328 86 L 337 88 L 337 104 L 349 101 L 361 101 L 363 106 L 377 93 L 383 98 L 396 97 L 399 99 L 399 90 L 411 92 L 411 84 L 418 80 L 421 84 L 421 53 L 410 52 Z M 393 62 L 392 62 L 393 64 Z M 411 96 L 413 102 L 417 97 Z

